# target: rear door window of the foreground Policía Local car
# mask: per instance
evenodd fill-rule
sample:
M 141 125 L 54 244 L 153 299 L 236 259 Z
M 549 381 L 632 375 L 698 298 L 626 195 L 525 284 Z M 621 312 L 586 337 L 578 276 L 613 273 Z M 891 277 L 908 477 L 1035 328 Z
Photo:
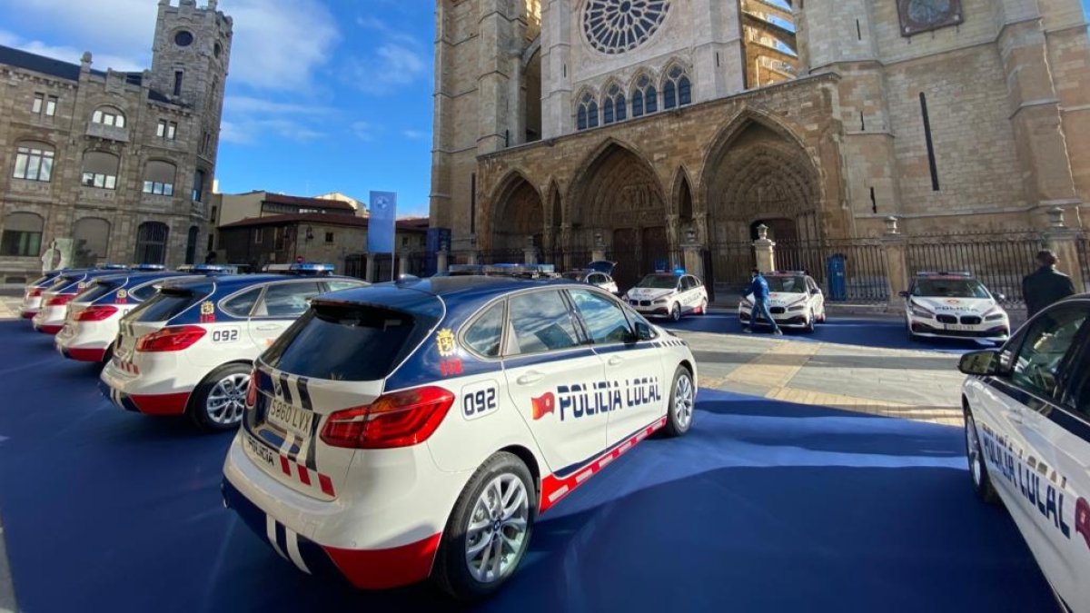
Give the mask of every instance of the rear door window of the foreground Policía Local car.
M 559 291 L 535 291 L 510 299 L 514 337 L 508 353 L 536 353 L 579 344 L 571 313 Z

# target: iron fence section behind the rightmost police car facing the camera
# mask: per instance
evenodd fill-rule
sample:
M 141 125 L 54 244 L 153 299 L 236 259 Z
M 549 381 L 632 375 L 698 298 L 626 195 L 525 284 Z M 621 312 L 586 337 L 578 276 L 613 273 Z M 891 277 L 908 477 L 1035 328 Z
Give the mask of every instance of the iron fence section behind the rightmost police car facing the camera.
M 968 272 L 1001 302 L 1021 304 L 1022 277 L 1036 268 L 1044 242 L 1036 232 L 947 235 L 910 239 L 905 253 L 909 274 L 921 271 Z

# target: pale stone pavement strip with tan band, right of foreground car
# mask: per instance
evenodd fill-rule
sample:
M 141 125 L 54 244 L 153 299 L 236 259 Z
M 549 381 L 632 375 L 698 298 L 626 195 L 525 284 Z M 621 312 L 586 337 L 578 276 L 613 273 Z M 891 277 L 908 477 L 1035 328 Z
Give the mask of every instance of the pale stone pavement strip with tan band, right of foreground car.
M 677 332 L 701 387 L 946 425 L 962 425 L 957 356 L 790 337 Z

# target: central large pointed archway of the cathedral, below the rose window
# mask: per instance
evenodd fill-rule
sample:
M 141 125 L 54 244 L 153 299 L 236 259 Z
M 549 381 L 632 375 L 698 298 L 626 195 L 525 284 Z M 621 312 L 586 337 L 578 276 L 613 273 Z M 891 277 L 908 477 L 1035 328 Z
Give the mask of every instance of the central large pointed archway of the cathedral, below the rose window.
M 616 142 L 604 145 L 569 199 L 569 250 L 588 251 L 601 236 L 617 262 L 615 277 L 631 287 L 646 273 L 673 264 L 666 199 L 646 159 Z

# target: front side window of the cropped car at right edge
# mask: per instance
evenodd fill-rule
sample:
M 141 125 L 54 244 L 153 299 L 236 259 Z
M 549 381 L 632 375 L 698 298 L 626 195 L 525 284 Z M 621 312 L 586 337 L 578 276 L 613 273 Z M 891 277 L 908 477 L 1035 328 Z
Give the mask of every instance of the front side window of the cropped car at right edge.
M 1086 318 L 1086 309 L 1077 304 L 1052 309 L 1036 318 L 1013 357 L 1012 382 L 1041 397 L 1052 398 L 1064 356 Z

